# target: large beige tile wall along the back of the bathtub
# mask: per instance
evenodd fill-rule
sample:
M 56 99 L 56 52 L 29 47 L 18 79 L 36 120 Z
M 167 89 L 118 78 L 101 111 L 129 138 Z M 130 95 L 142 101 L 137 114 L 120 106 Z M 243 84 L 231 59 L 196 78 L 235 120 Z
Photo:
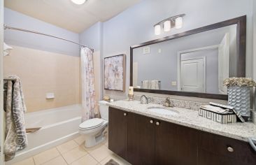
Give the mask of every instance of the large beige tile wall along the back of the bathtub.
M 12 45 L 4 76 L 16 75 L 28 112 L 80 103 L 80 58 Z M 54 92 L 55 99 L 45 99 Z

